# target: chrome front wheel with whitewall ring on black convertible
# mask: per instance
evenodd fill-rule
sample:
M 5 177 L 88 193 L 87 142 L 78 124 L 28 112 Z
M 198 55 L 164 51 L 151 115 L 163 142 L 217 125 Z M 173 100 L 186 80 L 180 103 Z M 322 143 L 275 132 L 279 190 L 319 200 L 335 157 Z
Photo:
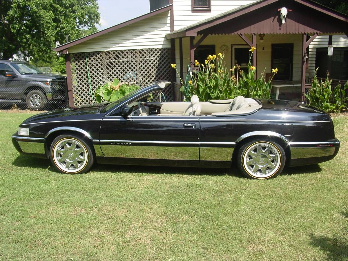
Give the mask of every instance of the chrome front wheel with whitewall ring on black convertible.
M 52 158 L 62 171 L 77 173 L 86 166 L 88 153 L 84 144 L 77 139 L 64 138 L 54 145 Z

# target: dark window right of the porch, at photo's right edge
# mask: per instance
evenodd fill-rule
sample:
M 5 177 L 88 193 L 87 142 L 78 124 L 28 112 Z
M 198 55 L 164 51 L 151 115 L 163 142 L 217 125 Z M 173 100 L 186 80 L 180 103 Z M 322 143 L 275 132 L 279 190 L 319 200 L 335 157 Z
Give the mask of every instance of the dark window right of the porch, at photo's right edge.
M 348 47 L 334 47 L 331 57 L 327 56 L 327 47 L 316 48 L 315 68 L 319 68 L 318 77 L 325 78 L 329 71 L 331 79 L 348 79 Z

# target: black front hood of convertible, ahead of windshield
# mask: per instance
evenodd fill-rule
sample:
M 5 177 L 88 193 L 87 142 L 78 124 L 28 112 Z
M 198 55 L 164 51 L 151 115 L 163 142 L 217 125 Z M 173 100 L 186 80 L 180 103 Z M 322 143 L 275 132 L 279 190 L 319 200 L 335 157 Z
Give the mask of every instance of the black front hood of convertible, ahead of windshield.
M 66 109 L 59 109 L 55 111 L 48 111 L 36 114 L 34 116 L 31 116 L 30 118 L 27 118 L 22 122 L 22 124 L 28 124 L 33 122 L 45 122 L 47 120 L 74 120 L 79 118 L 78 116 L 92 116 L 95 114 L 100 114 L 98 109 L 101 106 L 101 103 L 95 104 L 95 105 L 85 105 L 80 106 L 78 108 L 66 108 Z M 100 116 L 102 117 L 102 116 Z M 100 118 L 96 117 L 96 118 Z M 90 117 L 89 117 L 90 118 Z

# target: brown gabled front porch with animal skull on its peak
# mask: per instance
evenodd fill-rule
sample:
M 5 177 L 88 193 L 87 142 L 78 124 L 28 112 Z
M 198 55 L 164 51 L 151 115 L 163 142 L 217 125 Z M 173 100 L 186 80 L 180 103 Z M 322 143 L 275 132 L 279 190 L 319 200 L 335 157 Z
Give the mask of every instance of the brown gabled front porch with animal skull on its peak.
M 282 23 L 279 9 L 288 10 Z M 224 53 L 227 68 L 238 64 L 246 70 L 254 46 L 255 77 L 278 73 L 272 80 L 279 98 L 303 100 L 310 87 L 308 47 L 318 35 L 346 34 L 348 17 L 312 1 L 258 1 L 167 34 L 175 39 L 175 60 L 184 79 L 188 65 L 204 63 L 207 55 Z M 306 71 L 307 69 L 307 71 Z M 231 72 L 231 73 L 237 73 Z M 179 79 L 177 79 L 179 81 Z

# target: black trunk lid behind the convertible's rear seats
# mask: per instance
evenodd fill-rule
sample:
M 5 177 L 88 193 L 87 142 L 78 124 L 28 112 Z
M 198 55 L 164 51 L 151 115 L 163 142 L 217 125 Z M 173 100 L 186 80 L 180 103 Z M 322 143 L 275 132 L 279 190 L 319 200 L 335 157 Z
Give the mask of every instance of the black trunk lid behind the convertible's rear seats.
M 302 102 L 272 99 L 259 99 L 258 101 L 262 104 L 263 109 L 326 114 L 324 111 L 319 110 L 313 106 L 309 106 L 308 104 Z

